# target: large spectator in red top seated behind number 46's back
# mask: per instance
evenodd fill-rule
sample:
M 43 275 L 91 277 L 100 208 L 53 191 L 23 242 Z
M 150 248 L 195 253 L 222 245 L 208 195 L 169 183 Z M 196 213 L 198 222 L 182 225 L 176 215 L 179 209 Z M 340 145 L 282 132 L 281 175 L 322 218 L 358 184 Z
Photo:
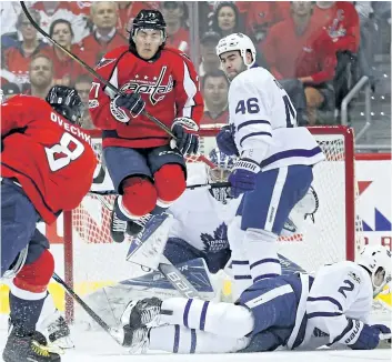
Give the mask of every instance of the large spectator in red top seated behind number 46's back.
M 295 78 L 303 83 L 311 125 L 318 121 L 318 110 L 334 112 L 331 82 L 336 66 L 331 38 L 311 22 L 312 8 L 312 2 L 293 1 L 291 17 L 274 24 L 262 46 L 262 54 L 278 80 Z

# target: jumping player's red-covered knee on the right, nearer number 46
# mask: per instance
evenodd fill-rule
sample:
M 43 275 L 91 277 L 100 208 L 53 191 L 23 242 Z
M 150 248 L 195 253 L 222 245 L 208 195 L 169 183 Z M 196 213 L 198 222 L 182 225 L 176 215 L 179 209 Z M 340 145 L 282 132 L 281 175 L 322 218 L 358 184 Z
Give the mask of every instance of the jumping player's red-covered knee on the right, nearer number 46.
M 185 191 L 185 174 L 180 164 L 163 164 L 155 173 L 158 199 L 163 203 L 175 201 Z

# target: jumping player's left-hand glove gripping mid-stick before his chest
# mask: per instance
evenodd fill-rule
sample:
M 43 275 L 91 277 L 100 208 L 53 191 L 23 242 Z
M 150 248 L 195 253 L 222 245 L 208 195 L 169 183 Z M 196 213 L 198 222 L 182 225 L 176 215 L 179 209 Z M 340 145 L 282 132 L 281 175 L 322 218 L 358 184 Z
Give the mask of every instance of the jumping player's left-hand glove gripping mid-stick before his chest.
M 139 93 L 118 94 L 110 101 L 110 112 L 122 123 L 130 121 L 129 113 L 135 118 L 144 109 L 145 102 Z

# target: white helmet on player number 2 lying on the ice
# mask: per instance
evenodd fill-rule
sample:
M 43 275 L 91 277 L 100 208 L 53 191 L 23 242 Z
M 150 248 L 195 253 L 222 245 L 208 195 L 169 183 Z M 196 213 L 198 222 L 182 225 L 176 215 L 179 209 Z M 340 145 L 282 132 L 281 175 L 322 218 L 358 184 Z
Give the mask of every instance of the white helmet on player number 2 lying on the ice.
M 374 296 L 391 281 L 391 251 L 382 245 L 365 245 L 356 259 L 356 264 L 371 273 Z M 379 281 L 378 272 L 384 271 L 383 280 Z

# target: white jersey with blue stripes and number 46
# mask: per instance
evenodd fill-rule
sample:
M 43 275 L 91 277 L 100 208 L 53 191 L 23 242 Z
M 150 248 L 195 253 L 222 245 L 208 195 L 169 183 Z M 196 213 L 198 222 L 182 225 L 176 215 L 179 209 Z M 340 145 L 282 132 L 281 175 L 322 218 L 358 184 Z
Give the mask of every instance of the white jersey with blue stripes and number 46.
M 229 112 L 240 155 L 257 161 L 263 171 L 312 165 L 324 159 L 309 130 L 296 127 L 296 112 L 288 93 L 264 68 L 251 68 L 234 78 Z

